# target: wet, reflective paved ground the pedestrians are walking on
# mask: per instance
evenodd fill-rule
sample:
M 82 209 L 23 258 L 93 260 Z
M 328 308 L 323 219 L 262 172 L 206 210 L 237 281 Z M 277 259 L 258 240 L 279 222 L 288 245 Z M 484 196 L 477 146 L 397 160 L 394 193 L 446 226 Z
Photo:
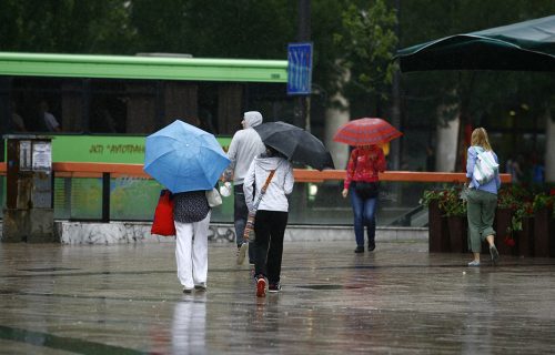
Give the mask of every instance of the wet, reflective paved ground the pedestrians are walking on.
M 555 260 L 353 244 L 286 243 L 264 298 L 232 244 L 188 295 L 173 243 L 0 244 L 0 354 L 555 353 Z

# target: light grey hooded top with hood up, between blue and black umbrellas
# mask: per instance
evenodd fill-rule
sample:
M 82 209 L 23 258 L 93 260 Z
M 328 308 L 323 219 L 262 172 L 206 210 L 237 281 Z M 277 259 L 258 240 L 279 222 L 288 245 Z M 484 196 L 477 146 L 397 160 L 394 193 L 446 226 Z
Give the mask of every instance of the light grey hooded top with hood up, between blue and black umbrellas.
M 265 151 L 259 133 L 252 129 L 262 123 L 262 114 L 258 111 L 249 111 L 244 113 L 243 120 L 245 121 L 245 129 L 235 132 L 228 150 L 228 158 L 231 160 L 230 169 L 233 170 L 233 183 L 235 185 L 243 183 L 244 175 L 254 156 Z

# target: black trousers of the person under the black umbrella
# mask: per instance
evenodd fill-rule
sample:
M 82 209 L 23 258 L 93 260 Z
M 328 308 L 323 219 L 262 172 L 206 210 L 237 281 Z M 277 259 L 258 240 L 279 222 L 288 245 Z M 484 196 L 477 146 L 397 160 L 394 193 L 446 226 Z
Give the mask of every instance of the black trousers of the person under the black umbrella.
M 287 226 L 287 212 L 256 211 L 254 221 L 254 272 L 270 283 L 280 282 L 283 236 Z

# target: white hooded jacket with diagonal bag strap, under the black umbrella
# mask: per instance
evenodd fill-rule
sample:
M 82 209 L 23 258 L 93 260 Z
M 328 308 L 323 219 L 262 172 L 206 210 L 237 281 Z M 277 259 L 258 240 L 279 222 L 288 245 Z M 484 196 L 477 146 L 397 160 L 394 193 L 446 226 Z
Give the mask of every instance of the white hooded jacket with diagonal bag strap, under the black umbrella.
M 252 161 L 243 182 L 244 199 L 250 212 L 254 212 L 254 203 L 256 201 L 256 197 L 253 201 L 253 183 L 256 187 L 255 196 L 259 196 L 262 186 L 264 186 L 270 175 L 270 171 L 274 169 L 275 173 L 270 181 L 266 193 L 262 196 L 258 210 L 289 211 L 289 202 L 285 195 L 289 195 L 293 191 L 295 182 L 293 179 L 293 168 L 283 158 L 261 154 Z

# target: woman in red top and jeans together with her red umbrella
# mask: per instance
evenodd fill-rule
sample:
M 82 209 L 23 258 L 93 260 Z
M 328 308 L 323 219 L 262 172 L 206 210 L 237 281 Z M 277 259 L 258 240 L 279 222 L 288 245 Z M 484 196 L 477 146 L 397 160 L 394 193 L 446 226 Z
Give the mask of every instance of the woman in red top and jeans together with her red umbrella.
M 380 172 L 385 171 L 385 154 L 380 144 L 403 133 L 382 119 L 359 119 L 341 126 L 333 140 L 354 145 L 351 152 L 343 197 L 351 193 L 354 214 L 355 253 L 364 253 L 364 226 L 369 237 L 369 252 L 375 247 L 376 210 L 380 187 Z

